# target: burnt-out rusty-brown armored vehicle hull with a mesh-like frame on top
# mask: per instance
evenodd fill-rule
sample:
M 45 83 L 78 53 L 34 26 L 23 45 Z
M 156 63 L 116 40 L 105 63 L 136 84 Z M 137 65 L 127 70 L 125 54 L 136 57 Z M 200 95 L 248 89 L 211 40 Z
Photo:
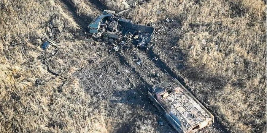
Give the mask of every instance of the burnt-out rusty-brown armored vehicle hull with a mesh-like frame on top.
M 193 133 L 214 122 L 214 116 L 169 74 L 148 92 L 150 99 L 178 132 Z

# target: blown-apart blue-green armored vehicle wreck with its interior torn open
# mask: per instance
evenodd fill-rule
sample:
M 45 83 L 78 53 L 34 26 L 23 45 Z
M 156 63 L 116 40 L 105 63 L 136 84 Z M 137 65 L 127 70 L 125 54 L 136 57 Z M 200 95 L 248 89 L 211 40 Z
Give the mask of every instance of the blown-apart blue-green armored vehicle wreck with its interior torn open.
M 113 46 L 125 45 L 131 41 L 137 47 L 150 48 L 154 28 L 133 24 L 132 21 L 119 17 L 119 14 L 127 10 L 117 14 L 115 11 L 104 10 L 102 15 L 88 25 L 89 33 L 94 38 L 108 40 Z

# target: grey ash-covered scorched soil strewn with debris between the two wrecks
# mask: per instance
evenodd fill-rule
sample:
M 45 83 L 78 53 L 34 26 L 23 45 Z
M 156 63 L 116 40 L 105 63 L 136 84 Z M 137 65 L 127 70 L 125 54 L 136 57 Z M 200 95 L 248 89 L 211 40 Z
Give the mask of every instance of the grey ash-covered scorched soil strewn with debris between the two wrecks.
M 158 34 L 155 37 L 168 38 L 168 35 Z M 131 106 L 131 108 L 141 106 L 144 111 L 155 114 L 158 121 L 163 121 L 163 126 L 157 126 L 159 132 L 176 132 L 147 96 L 149 89 L 165 81 L 166 72 L 186 85 L 184 79 L 177 76 L 180 72 L 172 71 L 172 69 L 183 69 L 185 66 L 182 61 L 179 60 L 178 66 L 171 67 L 172 69 L 169 67 L 169 64 L 177 63 L 172 58 L 184 59 L 182 53 L 175 56 L 170 55 L 170 52 L 168 52 L 170 48 L 166 49 L 166 47 L 171 47 L 171 42 L 159 43 L 155 49 L 149 50 L 139 49 L 132 44 L 128 44 L 127 50 L 112 50 L 111 52 L 109 50 L 113 46 L 103 46 L 101 42 L 92 42 L 88 46 L 97 53 L 97 56 L 88 60 L 89 63 L 75 72 L 74 75 L 90 95 L 96 96 L 98 100 L 109 101 L 111 103 L 110 108 L 113 108 L 116 104 L 125 104 Z M 141 63 L 139 64 L 138 61 L 140 60 Z M 205 99 L 201 98 L 199 100 L 203 102 Z M 154 121 L 154 123 L 158 121 Z M 123 129 L 124 132 L 132 131 L 130 127 L 134 126 L 134 121 L 124 126 L 127 129 Z M 223 130 L 224 127 L 215 122 L 212 126 L 199 132 L 222 132 Z

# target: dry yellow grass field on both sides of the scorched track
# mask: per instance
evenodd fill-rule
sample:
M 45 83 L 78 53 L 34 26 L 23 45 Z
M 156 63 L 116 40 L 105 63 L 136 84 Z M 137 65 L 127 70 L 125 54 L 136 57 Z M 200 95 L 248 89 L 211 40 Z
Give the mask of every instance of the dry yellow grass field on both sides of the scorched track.
M 101 1 L 116 11 L 126 8 L 123 0 Z M 133 132 L 157 132 L 152 112 L 124 104 L 111 107 L 80 86 L 72 74 L 96 51 L 74 39 L 80 26 L 59 2 L 0 1 L 0 132 L 116 132 L 128 121 L 135 121 Z M 89 1 L 71 2 L 78 15 L 94 18 L 101 12 Z M 166 17 L 179 20 L 177 46 L 186 55 L 184 76 L 201 77 L 211 85 L 223 82 L 206 97 L 231 132 L 266 132 L 266 2 L 149 0 L 124 15 L 143 25 Z M 61 51 L 54 63 L 61 67 L 53 69 L 68 80 L 50 74 L 39 59 L 54 51 L 40 48 L 39 38 L 47 35 L 50 21 L 60 32 Z M 9 44 L 35 38 L 36 43 Z M 36 79 L 45 84 L 36 86 Z

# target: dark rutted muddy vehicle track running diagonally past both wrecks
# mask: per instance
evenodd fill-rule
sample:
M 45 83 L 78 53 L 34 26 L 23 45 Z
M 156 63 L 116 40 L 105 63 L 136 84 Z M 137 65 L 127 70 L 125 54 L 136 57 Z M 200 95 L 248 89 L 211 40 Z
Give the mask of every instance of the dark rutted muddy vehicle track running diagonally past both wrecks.
M 82 17 L 78 16 L 75 13 L 76 8 L 74 7 L 73 3 L 71 3 L 68 0 L 61 0 L 63 2 L 63 5 L 66 10 L 68 10 L 70 12 L 70 14 L 74 17 L 74 20 L 77 22 L 77 24 L 79 24 L 83 30 L 87 29 L 87 25 L 88 22 L 85 22 Z M 90 0 L 89 2 L 91 2 L 93 5 L 95 5 L 98 9 L 107 9 L 107 7 L 101 3 L 100 1 L 93 1 Z M 108 50 L 108 48 L 107 48 Z M 136 58 L 145 60 L 142 65 L 137 65 L 136 62 L 132 61 L 132 53 L 135 53 Z M 114 54 L 114 53 L 112 53 Z M 132 50 L 130 49 L 128 52 L 125 52 L 123 54 L 119 54 L 119 53 L 115 53 L 115 56 L 117 56 L 117 59 L 119 59 L 120 63 L 122 65 L 126 65 L 126 67 L 130 68 L 131 71 L 137 75 L 137 77 L 139 78 L 139 80 L 142 82 L 142 84 L 139 84 L 137 86 L 139 86 L 140 89 L 137 90 L 139 95 L 142 95 L 142 100 L 149 100 L 149 98 L 147 97 L 147 91 L 149 91 L 149 89 L 157 84 L 157 82 L 161 82 L 165 80 L 165 76 L 163 73 L 168 72 L 172 77 L 176 78 L 177 80 L 179 80 L 179 82 L 181 82 L 184 86 L 186 86 L 186 83 L 184 82 L 184 79 L 181 77 L 178 77 L 175 72 L 173 72 L 171 70 L 171 68 L 168 67 L 168 65 L 166 65 L 166 63 L 162 60 L 160 60 L 159 55 L 156 54 L 153 50 L 149 50 L 149 51 L 142 51 L 142 50 Z M 152 60 L 153 57 L 158 58 L 158 60 Z M 143 65 L 144 64 L 144 65 Z M 149 75 L 154 74 L 154 73 L 159 73 L 161 72 L 161 76 L 159 78 L 155 77 L 150 77 Z M 154 82 L 151 82 L 154 81 Z M 135 85 L 134 85 L 135 86 Z M 188 88 L 188 86 L 186 86 Z M 150 102 L 149 102 L 150 103 Z M 152 103 L 150 103 L 152 105 Z M 152 108 L 150 108 L 152 109 Z M 154 106 L 152 110 L 157 110 Z M 158 114 L 159 111 L 157 111 Z M 163 117 L 162 115 L 160 115 L 160 117 Z M 222 132 L 222 131 L 227 131 L 225 130 L 226 128 L 224 126 L 222 126 L 221 123 L 219 123 L 215 117 L 215 122 L 214 122 L 214 127 L 217 129 L 216 131 Z

